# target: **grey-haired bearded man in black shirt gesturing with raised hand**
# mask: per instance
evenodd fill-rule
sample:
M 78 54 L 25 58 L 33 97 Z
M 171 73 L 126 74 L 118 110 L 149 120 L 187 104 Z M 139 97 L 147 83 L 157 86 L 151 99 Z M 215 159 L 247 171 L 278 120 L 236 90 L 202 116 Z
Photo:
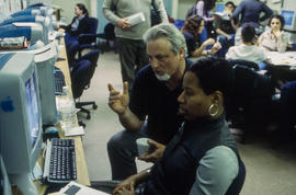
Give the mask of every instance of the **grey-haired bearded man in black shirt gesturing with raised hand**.
M 123 93 L 109 84 L 109 106 L 126 128 L 107 142 L 113 180 L 137 173 L 136 139 L 149 137 L 167 145 L 183 119 L 178 115 L 177 99 L 182 92 L 184 72 L 192 64 L 185 58 L 185 38 L 173 24 L 159 24 L 150 27 L 144 39 L 150 65 L 136 74 L 130 101 L 127 82 Z

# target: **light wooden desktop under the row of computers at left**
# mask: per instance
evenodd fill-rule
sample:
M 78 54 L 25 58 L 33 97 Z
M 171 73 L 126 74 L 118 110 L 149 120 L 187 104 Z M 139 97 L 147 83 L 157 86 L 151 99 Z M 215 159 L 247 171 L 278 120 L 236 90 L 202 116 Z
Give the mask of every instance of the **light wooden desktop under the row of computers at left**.
M 66 48 L 65 48 L 65 45 L 64 45 L 64 41 L 61 42 L 60 48 L 61 49 L 60 49 L 60 53 L 59 53 L 59 57 L 65 58 L 66 60 L 57 61 L 55 66 L 58 67 L 64 72 L 66 84 L 70 87 L 71 85 L 71 79 L 70 79 L 70 72 L 69 72 L 69 67 L 68 67 L 68 61 L 67 61 L 67 54 L 66 54 Z M 71 88 L 69 88 L 69 89 L 71 89 Z M 76 124 L 78 126 L 77 118 L 76 118 Z M 58 126 L 58 127 L 60 129 L 60 126 Z M 60 133 L 60 138 L 65 138 L 62 133 Z M 86 158 L 84 158 L 84 151 L 83 151 L 81 137 L 80 136 L 73 136 L 73 137 L 67 137 L 67 138 L 75 139 L 78 183 L 80 183 L 82 185 L 90 186 L 90 179 L 89 179 L 88 167 L 87 167 L 87 162 L 86 162 Z M 43 157 L 41 157 L 38 159 L 38 163 L 42 164 L 42 167 L 43 167 L 43 163 L 44 163 L 44 158 Z M 36 184 L 36 187 L 37 187 L 39 194 L 44 194 L 47 186 L 46 185 L 41 185 L 38 183 L 35 183 L 35 184 Z

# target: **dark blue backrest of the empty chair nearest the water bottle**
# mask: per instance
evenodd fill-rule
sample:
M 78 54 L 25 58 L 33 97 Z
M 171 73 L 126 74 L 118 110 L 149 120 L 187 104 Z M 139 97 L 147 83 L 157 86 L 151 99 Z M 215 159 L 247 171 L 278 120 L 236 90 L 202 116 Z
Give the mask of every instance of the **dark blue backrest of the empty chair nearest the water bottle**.
M 100 50 L 91 50 L 90 53 L 83 55 L 72 68 L 70 74 L 72 94 L 75 99 L 80 97 L 83 93 L 83 90 L 90 85 L 90 81 L 93 77 L 99 56 Z

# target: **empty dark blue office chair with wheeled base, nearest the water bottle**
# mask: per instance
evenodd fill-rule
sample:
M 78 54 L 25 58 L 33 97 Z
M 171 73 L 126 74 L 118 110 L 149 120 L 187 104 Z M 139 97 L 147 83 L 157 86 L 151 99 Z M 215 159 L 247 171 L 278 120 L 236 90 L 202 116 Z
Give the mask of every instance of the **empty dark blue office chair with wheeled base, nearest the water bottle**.
M 83 90 L 90 88 L 91 78 L 96 68 L 96 62 L 100 56 L 100 50 L 91 50 L 83 55 L 76 62 L 75 67 L 70 71 L 71 87 L 73 99 L 76 100 L 76 107 L 80 108 L 80 112 L 87 113 L 87 119 L 91 118 L 90 111 L 84 108 L 86 105 L 92 105 L 93 110 L 98 108 L 94 101 L 80 102 L 77 101 L 83 93 Z

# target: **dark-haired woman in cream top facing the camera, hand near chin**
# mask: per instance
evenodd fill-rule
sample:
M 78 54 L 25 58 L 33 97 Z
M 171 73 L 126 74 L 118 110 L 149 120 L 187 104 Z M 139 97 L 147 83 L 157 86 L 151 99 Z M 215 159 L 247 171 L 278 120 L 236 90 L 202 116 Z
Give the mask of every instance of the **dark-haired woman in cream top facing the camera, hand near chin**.
M 283 31 L 284 25 L 285 20 L 282 15 L 272 15 L 269 21 L 271 28 L 260 35 L 259 45 L 270 51 L 286 51 L 288 37 Z

